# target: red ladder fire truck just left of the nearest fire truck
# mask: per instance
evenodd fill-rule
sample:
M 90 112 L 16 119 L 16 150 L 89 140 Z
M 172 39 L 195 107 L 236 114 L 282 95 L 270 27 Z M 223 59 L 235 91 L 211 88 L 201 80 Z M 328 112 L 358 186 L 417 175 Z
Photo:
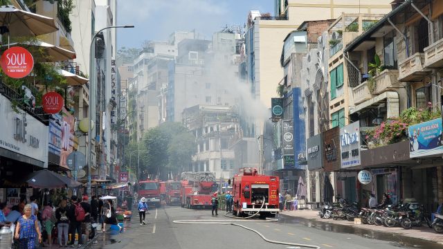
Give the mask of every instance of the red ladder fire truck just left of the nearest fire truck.
M 213 192 L 217 191 L 215 174 L 212 172 L 181 173 L 181 207 L 210 209 Z

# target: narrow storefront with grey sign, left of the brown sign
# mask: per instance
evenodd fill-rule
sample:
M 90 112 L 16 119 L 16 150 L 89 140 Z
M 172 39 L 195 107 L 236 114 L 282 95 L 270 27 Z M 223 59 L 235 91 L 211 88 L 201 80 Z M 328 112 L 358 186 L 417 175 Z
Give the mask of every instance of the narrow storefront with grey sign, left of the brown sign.
M 307 139 L 307 188 L 308 201 L 312 203 L 321 203 L 323 201 L 323 139 L 318 134 Z

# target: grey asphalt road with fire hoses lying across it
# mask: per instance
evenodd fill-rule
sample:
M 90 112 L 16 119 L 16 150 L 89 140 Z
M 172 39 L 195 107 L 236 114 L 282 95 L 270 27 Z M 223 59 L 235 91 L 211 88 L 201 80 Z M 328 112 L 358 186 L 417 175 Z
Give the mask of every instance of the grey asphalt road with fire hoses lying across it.
M 140 225 L 138 216 L 134 216 L 131 222 L 125 223 L 125 232 L 100 234 L 98 243 L 91 244 L 89 248 L 226 249 L 236 244 L 240 248 L 254 249 L 298 248 L 268 243 L 254 232 L 234 225 L 172 223 L 190 219 L 228 219 L 223 211 L 219 211 L 218 216 L 212 216 L 210 210 L 188 210 L 180 207 L 165 207 L 150 212 L 147 215 L 147 225 Z M 271 240 L 311 244 L 321 248 L 443 248 L 434 243 L 417 243 L 396 237 L 380 240 L 369 239 L 371 237 L 362 234 L 333 232 L 334 229 L 323 229 L 288 216 L 281 216 L 277 222 L 263 222 L 260 219 L 254 221 L 257 222 L 241 224 L 259 231 Z

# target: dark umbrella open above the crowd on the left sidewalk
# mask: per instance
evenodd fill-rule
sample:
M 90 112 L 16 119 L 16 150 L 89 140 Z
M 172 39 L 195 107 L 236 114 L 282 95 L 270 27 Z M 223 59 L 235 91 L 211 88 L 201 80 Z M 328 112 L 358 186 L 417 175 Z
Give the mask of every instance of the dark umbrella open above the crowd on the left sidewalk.
M 31 187 L 48 189 L 57 187 L 78 187 L 82 185 L 82 183 L 79 183 L 78 181 L 74 181 L 73 179 L 62 176 L 61 174 L 51 172 L 48 169 L 33 172 L 30 174 L 30 176 L 28 176 L 26 183 L 28 183 L 28 185 Z

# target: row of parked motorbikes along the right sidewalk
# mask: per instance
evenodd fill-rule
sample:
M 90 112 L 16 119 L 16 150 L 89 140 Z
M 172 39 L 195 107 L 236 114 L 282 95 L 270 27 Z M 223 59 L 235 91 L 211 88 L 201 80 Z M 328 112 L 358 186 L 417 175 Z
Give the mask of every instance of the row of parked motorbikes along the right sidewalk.
M 437 233 L 443 233 L 443 215 L 431 214 L 424 210 L 423 205 L 417 203 L 399 203 L 397 205 L 378 206 L 376 209 L 359 208 L 357 203 L 348 203 L 341 199 L 338 203 L 327 203 L 320 208 L 318 215 L 323 219 L 343 219 L 354 221 L 360 218 L 363 224 L 384 225 L 392 228 L 401 226 L 410 229 L 413 226 L 422 226 L 424 223 Z

